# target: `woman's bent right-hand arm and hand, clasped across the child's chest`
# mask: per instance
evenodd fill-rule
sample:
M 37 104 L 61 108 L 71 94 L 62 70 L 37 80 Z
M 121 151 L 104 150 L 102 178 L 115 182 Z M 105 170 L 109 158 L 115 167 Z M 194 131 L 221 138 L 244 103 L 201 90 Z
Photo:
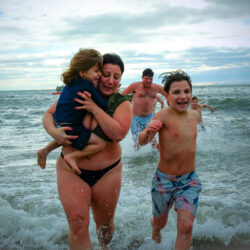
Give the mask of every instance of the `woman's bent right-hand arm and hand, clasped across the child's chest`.
M 116 108 L 113 117 L 111 117 L 93 102 L 89 93 L 79 93 L 79 96 L 84 101 L 75 99 L 75 101 L 83 105 L 77 107 L 77 109 L 85 109 L 92 113 L 103 132 L 111 140 L 120 141 L 126 136 L 132 121 L 132 108 L 129 101 L 122 102 Z

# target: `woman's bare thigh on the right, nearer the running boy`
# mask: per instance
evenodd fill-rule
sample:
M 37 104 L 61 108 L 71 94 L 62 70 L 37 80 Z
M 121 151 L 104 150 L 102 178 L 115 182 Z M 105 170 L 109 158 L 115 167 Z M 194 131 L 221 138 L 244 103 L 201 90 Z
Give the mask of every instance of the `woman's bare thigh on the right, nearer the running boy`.
M 120 196 L 122 162 L 108 171 L 92 187 L 92 211 L 96 224 L 109 224 Z

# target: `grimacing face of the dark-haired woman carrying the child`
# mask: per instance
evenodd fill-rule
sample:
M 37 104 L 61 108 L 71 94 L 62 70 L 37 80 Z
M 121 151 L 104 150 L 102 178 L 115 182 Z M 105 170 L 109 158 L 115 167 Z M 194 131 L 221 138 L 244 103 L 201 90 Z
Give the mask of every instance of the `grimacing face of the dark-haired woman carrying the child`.
M 122 71 L 118 65 L 110 63 L 104 64 L 98 89 L 105 96 L 110 96 L 118 92 L 121 77 Z

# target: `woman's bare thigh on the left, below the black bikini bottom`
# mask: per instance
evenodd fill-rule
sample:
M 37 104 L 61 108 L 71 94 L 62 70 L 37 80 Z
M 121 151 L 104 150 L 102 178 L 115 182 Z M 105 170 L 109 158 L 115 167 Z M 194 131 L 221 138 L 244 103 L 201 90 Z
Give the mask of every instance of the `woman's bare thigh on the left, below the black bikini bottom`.
M 91 188 L 60 157 L 57 160 L 57 188 L 68 219 L 89 217 Z

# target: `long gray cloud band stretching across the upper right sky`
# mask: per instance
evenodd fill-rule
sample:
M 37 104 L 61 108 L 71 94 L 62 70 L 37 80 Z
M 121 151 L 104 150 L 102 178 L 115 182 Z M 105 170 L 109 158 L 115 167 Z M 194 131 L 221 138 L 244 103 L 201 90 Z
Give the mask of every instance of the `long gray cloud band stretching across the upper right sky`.
M 61 20 L 60 28 L 53 35 L 60 39 L 95 39 L 96 41 L 142 42 L 157 34 L 160 28 L 168 29 L 178 24 L 200 24 L 211 20 L 226 20 L 249 16 L 247 1 L 232 2 L 207 1 L 209 5 L 203 9 L 158 5 L 143 13 L 131 14 L 124 12 L 106 13 L 90 17 L 67 17 Z M 243 5 L 244 3 L 244 5 Z M 216 28 L 216 27 L 214 27 Z M 52 32 L 52 31 L 51 31 Z M 182 34 L 182 30 L 179 31 Z M 178 31 L 176 32 L 178 34 Z M 164 35 L 164 34 L 161 34 Z M 167 33 L 165 34 L 167 37 Z

